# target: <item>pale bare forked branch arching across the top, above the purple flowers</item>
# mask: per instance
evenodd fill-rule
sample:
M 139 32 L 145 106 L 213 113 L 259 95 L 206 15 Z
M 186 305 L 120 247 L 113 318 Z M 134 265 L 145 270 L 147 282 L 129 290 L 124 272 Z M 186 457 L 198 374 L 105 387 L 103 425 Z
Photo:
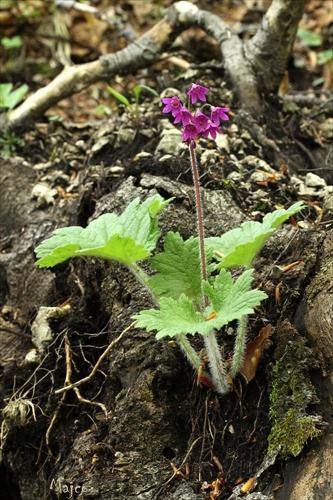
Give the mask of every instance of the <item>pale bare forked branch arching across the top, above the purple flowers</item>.
M 185 29 L 197 26 L 220 45 L 225 74 L 240 106 L 256 115 L 261 93 L 276 92 L 287 66 L 306 0 L 273 0 L 262 25 L 244 44 L 218 16 L 187 1 L 176 2 L 165 17 L 138 40 L 97 61 L 65 67 L 49 85 L 30 96 L 9 117 L 9 128 L 29 126 L 60 100 L 117 74 L 135 73 L 154 64 Z

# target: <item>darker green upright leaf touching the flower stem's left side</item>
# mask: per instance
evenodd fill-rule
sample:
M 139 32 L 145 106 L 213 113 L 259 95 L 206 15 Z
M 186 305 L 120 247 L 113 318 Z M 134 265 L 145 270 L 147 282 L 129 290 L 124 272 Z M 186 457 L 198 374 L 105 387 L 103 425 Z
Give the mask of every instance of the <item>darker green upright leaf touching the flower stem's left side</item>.
M 156 296 L 177 300 L 184 293 L 195 304 L 202 303 L 198 238 L 184 241 L 179 233 L 169 232 L 164 240 L 164 252 L 152 257 L 150 262 L 158 271 L 149 280 Z

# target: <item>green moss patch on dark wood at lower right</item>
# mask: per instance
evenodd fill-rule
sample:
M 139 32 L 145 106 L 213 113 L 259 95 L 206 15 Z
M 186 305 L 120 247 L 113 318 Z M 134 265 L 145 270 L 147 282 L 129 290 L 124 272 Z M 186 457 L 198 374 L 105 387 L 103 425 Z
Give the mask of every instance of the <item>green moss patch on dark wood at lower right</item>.
M 309 439 L 318 437 L 321 417 L 307 413 L 318 402 L 310 382 L 310 350 L 302 340 L 288 342 L 285 353 L 273 370 L 269 416 L 273 427 L 268 438 L 269 451 L 279 450 L 282 458 L 297 456 Z

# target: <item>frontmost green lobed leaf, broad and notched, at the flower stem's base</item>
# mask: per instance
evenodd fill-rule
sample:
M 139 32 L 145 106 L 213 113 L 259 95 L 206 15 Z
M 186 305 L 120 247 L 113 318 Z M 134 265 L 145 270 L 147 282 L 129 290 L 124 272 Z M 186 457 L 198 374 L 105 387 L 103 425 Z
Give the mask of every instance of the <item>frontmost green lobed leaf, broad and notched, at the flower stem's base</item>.
M 252 269 L 245 271 L 234 282 L 230 273 L 222 270 L 213 285 L 205 282 L 204 291 L 212 303 L 203 314 L 194 310 L 192 300 L 185 294 L 178 300 L 161 297 L 159 310 L 149 309 L 133 316 L 137 320 L 136 327 L 157 330 L 157 339 L 189 333 L 207 335 L 212 329 L 219 329 L 234 319 L 253 313 L 253 308 L 267 297 L 259 290 L 249 290 L 252 272 Z M 207 320 L 212 312 L 216 315 Z

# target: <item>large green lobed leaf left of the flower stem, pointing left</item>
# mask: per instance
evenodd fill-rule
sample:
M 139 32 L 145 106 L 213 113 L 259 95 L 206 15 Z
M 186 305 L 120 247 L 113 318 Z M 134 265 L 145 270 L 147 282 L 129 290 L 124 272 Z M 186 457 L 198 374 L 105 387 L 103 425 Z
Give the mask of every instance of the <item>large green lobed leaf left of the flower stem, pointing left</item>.
M 131 265 L 155 248 L 160 236 L 157 214 L 170 200 L 159 195 L 143 203 L 137 198 L 122 215 L 103 214 L 86 228 L 70 226 L 54 231 L 35 252 L 39 267 L 52 267 L 70 257 L 94 256 Z

